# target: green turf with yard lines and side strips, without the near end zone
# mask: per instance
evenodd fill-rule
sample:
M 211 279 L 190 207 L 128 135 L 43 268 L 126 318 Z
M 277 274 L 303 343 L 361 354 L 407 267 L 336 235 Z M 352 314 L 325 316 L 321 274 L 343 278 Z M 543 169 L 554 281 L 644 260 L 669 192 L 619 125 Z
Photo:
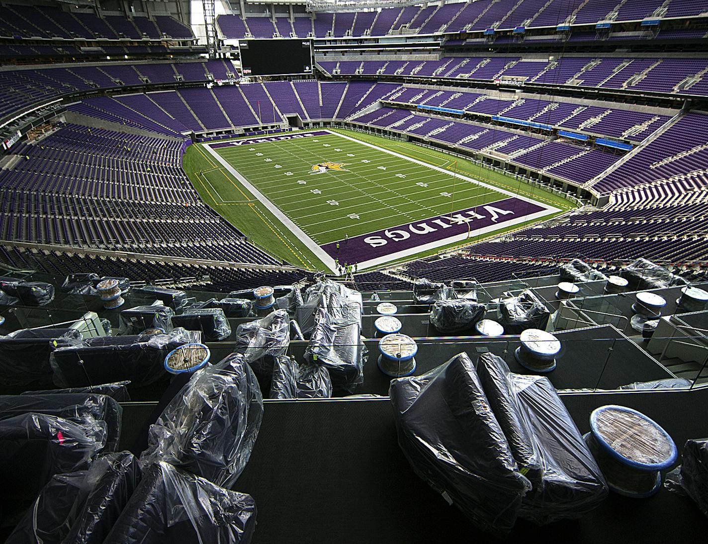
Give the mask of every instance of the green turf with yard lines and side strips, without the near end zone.
M 509 196 L 505 190 L 571 208 L 554 193 L 440 152 L 329 132 L 213 150 L 193 145 L 185 171 L 205 202 L 249 239 L 306 268 L 321 268 L 316 246 L 493 203 Z

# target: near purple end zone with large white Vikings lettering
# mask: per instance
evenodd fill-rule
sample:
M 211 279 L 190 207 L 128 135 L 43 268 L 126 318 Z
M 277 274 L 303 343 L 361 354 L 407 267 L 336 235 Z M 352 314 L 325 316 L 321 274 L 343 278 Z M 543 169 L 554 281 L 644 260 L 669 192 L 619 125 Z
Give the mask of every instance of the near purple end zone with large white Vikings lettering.
M 549 210 L 537 203 L 527 202 L 520 198 L 510 197 L 497 202 L 467 208 L 459 212 L 447 213 L 430 217 L 426 220 L 414 221 L 391 227 L 389 229 L 370 232 L 352 237 L 346 242 L 339 240 L 321 246 L 324 251 L 340 263 L 361 263 L 379 257 L 392 255 L 399 251 L 423 246 L 431 242 L 440 242 L 460 234 L 469 232 L 472 237 L 485 227 L 499 225 L 531 215 L 532 213 Z

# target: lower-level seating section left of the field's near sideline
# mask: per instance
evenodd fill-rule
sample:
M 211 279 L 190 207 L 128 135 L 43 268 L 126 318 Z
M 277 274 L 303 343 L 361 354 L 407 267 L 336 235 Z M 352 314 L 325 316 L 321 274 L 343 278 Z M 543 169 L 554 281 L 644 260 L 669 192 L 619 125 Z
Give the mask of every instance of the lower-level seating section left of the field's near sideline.
M 183 140 L 65 125 L 0 171 L 0 237 L 277 263 L 200 200 Z

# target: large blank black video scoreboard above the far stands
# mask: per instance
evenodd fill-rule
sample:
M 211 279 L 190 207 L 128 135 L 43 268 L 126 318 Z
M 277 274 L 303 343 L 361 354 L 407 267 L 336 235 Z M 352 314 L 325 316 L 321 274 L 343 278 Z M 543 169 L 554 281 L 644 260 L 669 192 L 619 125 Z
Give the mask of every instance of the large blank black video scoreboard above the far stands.
M 244 76 L 312 74 L 310 40 L 239 40 Z

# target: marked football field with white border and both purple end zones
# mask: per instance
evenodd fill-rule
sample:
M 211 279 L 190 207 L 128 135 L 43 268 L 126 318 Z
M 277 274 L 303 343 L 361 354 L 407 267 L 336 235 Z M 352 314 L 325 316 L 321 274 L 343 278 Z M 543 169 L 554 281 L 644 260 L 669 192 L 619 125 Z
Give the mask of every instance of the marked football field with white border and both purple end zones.
M 561 211 L 479 181 L 452 157 L 436 166 L 353 136 L 318 129 L 201 144 L 215 167 L 195 174 L 217 210 L 265 208 L 270 229 L 297 237 L 330 269 L 387 263 Z

